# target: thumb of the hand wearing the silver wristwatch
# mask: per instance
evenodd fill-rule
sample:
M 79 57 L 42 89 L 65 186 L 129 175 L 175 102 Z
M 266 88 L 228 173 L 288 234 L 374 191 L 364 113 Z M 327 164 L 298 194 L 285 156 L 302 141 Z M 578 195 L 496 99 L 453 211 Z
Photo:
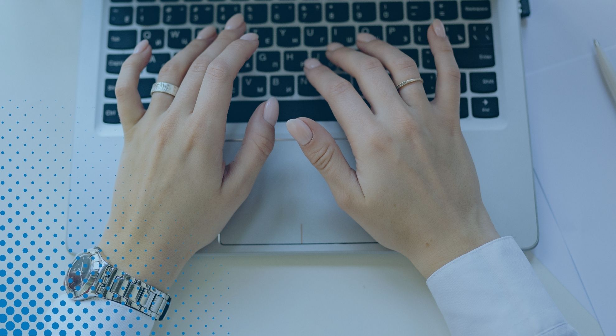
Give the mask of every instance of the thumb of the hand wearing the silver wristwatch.
M 278 120 L 278 100 L 270 98 L 254 111 L 248 121 L 244 141 L 235 160 L 227 166 L 222 188 L 230 194 L 248 195 L 265 160 L 274 149 L 274 126 Z

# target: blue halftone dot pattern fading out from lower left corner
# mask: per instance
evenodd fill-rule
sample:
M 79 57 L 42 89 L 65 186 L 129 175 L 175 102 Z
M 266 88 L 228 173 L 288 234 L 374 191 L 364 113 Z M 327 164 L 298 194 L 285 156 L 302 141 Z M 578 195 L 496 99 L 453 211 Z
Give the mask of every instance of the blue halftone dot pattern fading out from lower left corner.
M 152 335 L 232 334 L 225 313 L 230 302 L 224 299 L 229 272 L 211 256 L 195 256 L 186 264 L 169 291 L 172 305 L 163 321 L 109 300 L 64 297 L 64 277 L 74 258 L 68 239 L 79 246 L 73 253 L 98 243 L 88 219 L 107 221 L 117 168 L 101 155 L 101 162 L 78 164 L 103 169 L 104 176 L 71 176 L 71 165 L 79 160 L 78 153 L 73 157 L 74 144 L 106 151 L 88 139 L 74 139 L 75 105 L 0 101 L 0 335 L 144 335 L 137 331 L 144 326 L 152 327 Z M 76 110 L 94 118 L 91 110 Z M 71 186 L 80 189 L 75 193 Z M 75 223 L 71 213 L 87 218 Z M 69 237 L 70 225 L 87 230 Z

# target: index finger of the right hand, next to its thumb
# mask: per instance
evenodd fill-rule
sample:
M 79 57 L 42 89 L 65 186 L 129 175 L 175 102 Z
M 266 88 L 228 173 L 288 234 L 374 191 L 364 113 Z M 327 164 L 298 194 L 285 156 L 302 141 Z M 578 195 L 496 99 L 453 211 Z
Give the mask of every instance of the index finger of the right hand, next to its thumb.
M 353 142 L 374 120 L 374 115 L 355 88 L 317 59 L 304 61 L 306 78 L 330 104 L 336 120 Z M 363 133 L 365 134 L 365 133 Z

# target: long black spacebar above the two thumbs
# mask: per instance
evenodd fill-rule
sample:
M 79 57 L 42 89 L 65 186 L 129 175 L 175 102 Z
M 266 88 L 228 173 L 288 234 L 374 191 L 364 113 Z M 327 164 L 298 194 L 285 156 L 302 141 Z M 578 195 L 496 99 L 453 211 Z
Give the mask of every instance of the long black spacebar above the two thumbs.
M 259 100 L 232 101 L 229 105 L 227 123 L 247 123 L 254 110 L 261 104 Z M 323 99 L 312 100 L 278 100 L 280 113 L 278 121 L 306 117 L 316 121 L 336 120 L 330 105 Z

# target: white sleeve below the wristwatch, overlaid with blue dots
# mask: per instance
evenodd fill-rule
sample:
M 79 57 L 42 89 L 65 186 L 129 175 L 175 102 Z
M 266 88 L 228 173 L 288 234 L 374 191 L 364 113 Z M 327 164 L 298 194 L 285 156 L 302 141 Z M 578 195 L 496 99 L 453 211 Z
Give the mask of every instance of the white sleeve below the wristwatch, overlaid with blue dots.
M 47 308 L 44 320 L 44 335 L 91 335 L 95 331 L 96 335 L 147 336 L 156 323 L 150 316 L 121 303 L 99 297 L 75 301 L 65 292 Z

